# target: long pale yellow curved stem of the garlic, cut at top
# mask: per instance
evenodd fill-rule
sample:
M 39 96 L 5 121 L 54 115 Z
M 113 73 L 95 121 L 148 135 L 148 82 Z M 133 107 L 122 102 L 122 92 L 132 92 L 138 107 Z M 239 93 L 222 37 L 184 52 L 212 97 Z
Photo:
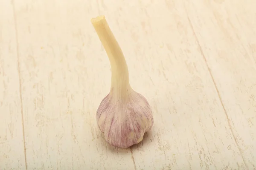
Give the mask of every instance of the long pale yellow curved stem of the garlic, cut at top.
M 111 64 L 111 91 L 118 96 L 127 96 L 131 90 L 128 67 L 122 50 L 109 28 L 105 16 L 91 19 L 91 23 L 99 36 Z

